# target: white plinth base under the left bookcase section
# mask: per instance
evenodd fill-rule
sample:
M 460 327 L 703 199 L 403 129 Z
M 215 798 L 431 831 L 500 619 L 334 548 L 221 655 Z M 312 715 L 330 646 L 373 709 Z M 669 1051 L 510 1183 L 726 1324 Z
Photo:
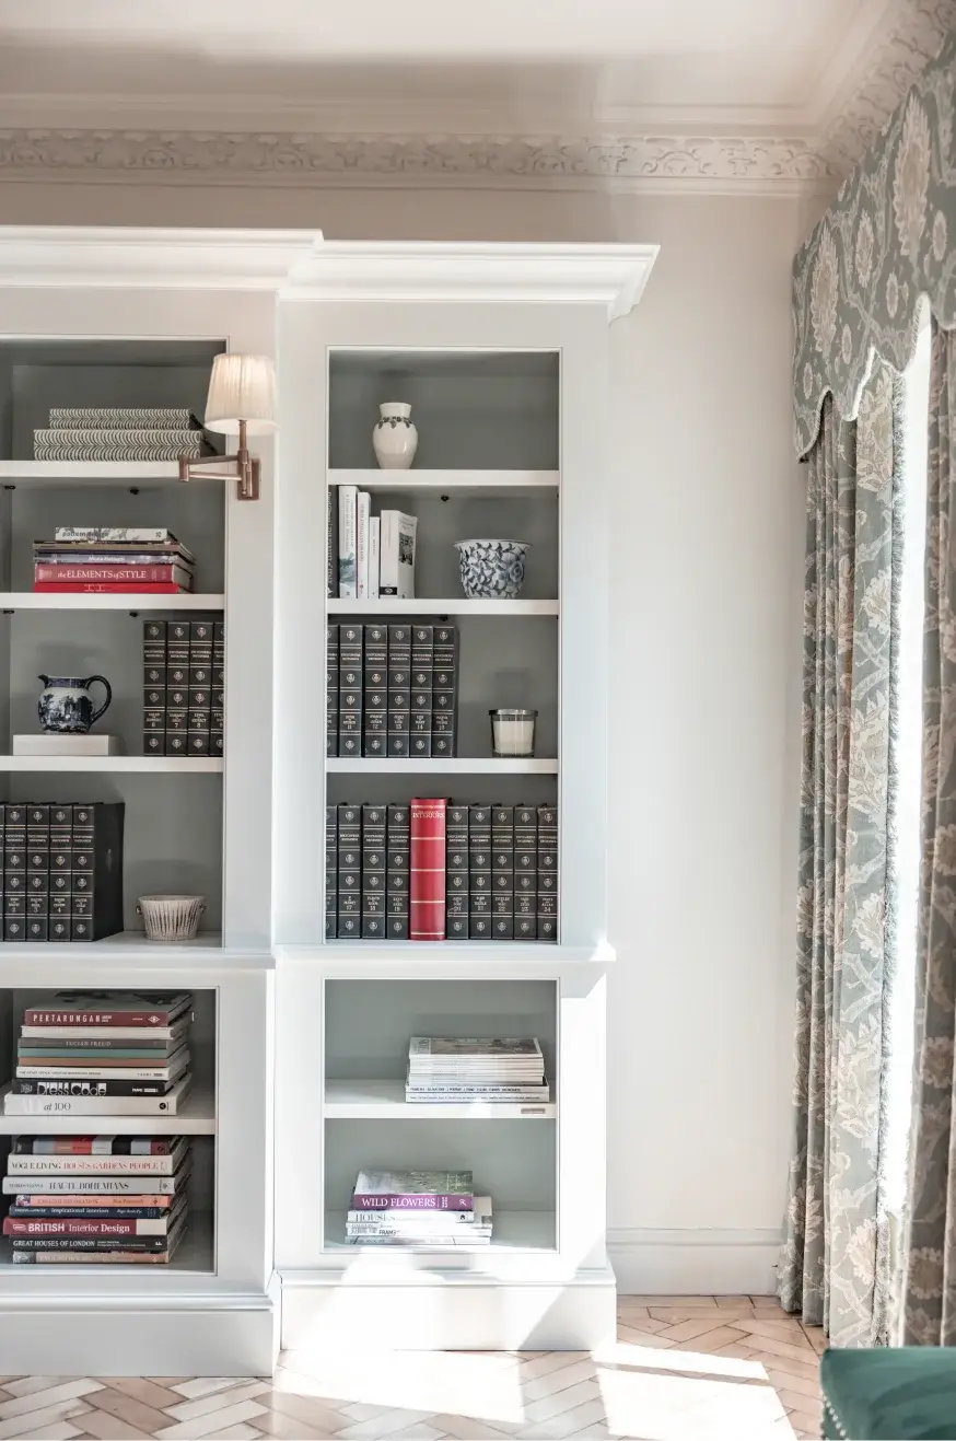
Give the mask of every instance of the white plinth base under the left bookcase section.
M 225 1310 L 206 1298 L 150 1306 L 65 1301 L 0 1307 L 12 1376 L 271 1376 L 279 1349 L 272 1300 Z

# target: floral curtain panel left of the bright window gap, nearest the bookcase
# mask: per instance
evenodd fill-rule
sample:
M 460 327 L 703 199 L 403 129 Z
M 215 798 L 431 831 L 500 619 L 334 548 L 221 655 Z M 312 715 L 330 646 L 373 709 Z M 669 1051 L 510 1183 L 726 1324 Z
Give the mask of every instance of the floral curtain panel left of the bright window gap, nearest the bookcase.
M 901 408 L 878 362 L 855 422 L 824 401 L 809 455 L 796 1138 L 779 1290 L 835 1346 L 885 1340 L 890 1288 Z

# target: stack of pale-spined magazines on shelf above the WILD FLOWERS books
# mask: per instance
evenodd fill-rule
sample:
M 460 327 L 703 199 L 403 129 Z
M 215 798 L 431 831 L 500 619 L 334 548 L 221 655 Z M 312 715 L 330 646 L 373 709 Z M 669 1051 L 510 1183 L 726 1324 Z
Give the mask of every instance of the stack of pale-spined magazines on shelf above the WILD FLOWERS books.
M 413 1105 L 544 1102 L 544 1056 L 534 1038 L 412 1036 L 405 1099 Z

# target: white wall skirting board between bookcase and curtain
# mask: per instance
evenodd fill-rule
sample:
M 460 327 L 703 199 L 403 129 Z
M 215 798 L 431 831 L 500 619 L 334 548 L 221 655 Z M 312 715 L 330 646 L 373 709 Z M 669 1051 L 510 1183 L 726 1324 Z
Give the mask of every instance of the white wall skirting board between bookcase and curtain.
M 779 1231 L 608 1232 L 621 1295 L 772 1295 Z

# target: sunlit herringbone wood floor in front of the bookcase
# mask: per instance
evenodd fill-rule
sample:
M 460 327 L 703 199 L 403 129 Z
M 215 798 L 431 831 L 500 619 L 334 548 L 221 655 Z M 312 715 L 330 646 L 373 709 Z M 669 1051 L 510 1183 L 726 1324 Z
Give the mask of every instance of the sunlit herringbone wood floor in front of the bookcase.
M 583 1352 L 285 1352 L 271 1380 L 0 1376 L 0 1441 L 790 1441 L 819 1435 L 816 1329 L 769 1297 L 626 1295 Z

